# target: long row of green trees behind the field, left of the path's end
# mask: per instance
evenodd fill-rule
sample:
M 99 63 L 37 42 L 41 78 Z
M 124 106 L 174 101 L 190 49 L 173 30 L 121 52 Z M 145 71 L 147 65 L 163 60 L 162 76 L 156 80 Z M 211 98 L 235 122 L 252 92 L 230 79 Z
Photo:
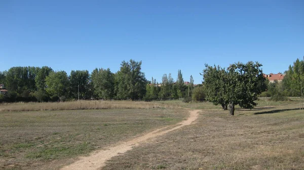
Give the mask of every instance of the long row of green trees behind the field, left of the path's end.
M 0 102 L 55 102 L 74 99 L 116 100 L 166 100 L 191 98 L 194 80 L 185 84 L 181 70 L 177 80 L 164 74 L 158 83 L 152 77 L 145 78 L 142 62 L 123 61 L 116 73 L 109 68 L 88 70 L 54 71 L 51 67 L 12 67 L 0 72 L 0 84 L 5 84 L 7 93 L 0 95 Z M 200 99 L 198 99 L 200 100 Z

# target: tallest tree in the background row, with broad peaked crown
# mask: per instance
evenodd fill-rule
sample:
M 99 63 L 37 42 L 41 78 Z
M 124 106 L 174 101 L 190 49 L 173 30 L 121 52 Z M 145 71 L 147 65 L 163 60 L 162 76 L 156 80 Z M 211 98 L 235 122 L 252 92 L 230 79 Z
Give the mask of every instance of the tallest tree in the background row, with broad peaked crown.
M 120 99 L 141 99 L 146 90 L 146 78 L 141 72 L 141 61 L 123 61 L 116 75 L 117 96 Z

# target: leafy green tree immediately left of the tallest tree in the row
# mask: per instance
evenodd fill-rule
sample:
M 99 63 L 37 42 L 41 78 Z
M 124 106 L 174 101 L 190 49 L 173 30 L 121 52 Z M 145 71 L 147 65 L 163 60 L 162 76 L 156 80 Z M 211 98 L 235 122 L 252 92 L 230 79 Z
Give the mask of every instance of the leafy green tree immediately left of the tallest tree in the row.
M 96 68 L 92 72 L 92 83 L 94 94 L 103 99 L 111 99 L 114 97 L 115 74 L 109 68 L 99 70 Z

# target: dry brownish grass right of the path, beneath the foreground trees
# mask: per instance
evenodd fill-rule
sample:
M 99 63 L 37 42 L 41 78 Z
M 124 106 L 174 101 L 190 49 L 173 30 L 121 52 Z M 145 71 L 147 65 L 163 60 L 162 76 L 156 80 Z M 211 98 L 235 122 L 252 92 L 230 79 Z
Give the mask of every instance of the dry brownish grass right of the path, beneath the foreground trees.
M 228 114 L 205 109 L 196 124 L 113 157 L 103 169 L 304 169 L 304 112 L 297 106 Z

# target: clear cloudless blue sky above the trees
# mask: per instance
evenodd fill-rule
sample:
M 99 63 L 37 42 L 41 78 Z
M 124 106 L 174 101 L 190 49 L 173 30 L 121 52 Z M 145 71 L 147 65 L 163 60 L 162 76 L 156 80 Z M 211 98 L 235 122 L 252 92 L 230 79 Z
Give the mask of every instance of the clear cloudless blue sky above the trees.
M 185 81 L 204 64 L 258 61 L 284 72 L 304 55 L 304 1 L 0 1 L 0 71 L 110 68 L 142 61 L 161 82 Z

